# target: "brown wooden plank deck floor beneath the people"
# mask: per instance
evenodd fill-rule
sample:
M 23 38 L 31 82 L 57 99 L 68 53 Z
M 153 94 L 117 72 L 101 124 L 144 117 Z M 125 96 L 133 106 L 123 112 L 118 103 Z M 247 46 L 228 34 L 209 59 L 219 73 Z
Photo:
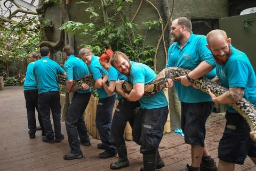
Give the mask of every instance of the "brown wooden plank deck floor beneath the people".
M 206 142 L 212 157 L 218 163 L 218 142 L 223 133 L 225 119 L 207 125 Z M 22 87 L 5 87 L 0 91 L 0 170 L 111 170 L 109 165 L 117 157 L 100 159 L 97 149 L 99 140 L 92 139 L 92 146 L 82 147 L 84 158 L 63 160 L 69 151 L 65 123 L 61 123 L 65 139 L 60 143 L 42 142 L 41 131 L 36 132 L 35 139 L 29 139 L 25 99 Z M 142 155 L 139 146 L 126 142 L 130 166 L 121 170 L 139 170 Z M 184 144 L 179 134 L 165 134 L 159 151 L 165 167 L 162 170 L 185 170 L 190 164 L 190 147 Z M 244 165 L 236 165 L 235 170 L 256 170 L 247 158 Z

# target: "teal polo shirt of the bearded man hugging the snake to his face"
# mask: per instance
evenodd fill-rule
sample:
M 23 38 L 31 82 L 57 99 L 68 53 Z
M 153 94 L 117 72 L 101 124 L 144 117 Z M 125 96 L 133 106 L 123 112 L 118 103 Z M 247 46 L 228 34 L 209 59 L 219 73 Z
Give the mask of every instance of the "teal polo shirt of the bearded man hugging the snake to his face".
M 150 69 L 149 66 L 137 62 L 131 62 L 130 76 L 128 76 L 128 79 L 133 86 L 137 83 L 143 83 L 147 85 L 153 81 L 155 77 L 155 72 Z M 139 99 L 139 102 L 142 109 L 161 108 L 168 105 L 163 91 L 155 93 L 149 97 L 142 97 Z

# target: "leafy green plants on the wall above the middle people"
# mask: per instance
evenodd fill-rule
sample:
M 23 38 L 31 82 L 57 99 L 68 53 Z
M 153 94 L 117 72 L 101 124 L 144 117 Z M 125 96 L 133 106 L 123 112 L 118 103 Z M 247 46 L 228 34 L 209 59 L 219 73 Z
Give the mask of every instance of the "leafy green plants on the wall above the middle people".
M 93 6 L 91 2 L 79 2 L 86 4 L 85 11 L 89 13 L 91 22 L 81 23 L 68 21 L 63 23 L 60 29 L 76 34 L 79 38 L 85 39 L 85 43 L 81 47 L 90 47 L 95 54 L 100 55 L 107 48 L 119 50 L 125 53 L 132 61 L 145 63 L 149 66 L 154 66 L 154 55 L 156 48 L 150 45 L 145 46 L 147 31 L 157 27 L 163 21 L 145 21 L 141 23 L 146 30 L 144 35 L 136 33 L 139 25 L 131 22 L 123 11 L 123 3 L 132 3 L 131 0 L 109 0 L 105 5 Z M 105 22 L 102 21 L 103 8 L 111 13 L 111 17 Z M 114 12 L 114 14 L 113 14 Z M 97 24 L 101 23 L 101 24 Z

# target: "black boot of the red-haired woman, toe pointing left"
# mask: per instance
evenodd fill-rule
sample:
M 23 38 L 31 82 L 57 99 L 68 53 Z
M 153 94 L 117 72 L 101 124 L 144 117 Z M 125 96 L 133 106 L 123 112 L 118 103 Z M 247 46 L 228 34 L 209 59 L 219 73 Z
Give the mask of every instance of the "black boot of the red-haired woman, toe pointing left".
M 110 168 L 115 170 L 129 166 L 130 162 L 127 158 L 127 150 L 125 144 L 121 145 L 120 147 L 117 147 L 116 150 L 119 158 L 115 163 L 112 163 L 110 165 Z

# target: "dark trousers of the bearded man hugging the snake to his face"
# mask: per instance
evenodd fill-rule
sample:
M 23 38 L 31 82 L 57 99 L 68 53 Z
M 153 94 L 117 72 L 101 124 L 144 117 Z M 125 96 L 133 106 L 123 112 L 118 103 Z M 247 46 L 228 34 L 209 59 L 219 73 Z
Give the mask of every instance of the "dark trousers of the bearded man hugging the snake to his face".
M 169 109 L 167 106 L 155 109 L 142 109 L 140 152 L 143 154 L 155 153 L 163 138 L 164 124 Z

